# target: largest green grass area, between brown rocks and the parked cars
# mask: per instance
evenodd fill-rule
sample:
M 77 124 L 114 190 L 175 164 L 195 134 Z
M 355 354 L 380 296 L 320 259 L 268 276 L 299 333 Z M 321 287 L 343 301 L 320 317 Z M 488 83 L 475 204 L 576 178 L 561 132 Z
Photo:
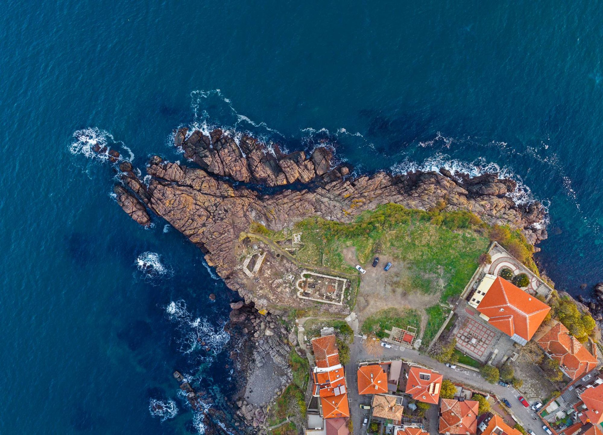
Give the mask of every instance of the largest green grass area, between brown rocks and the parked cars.
M 408 272 L 401 290 L 439 293 L 442 301 L 463 291 L 490 243 L 480 234 L 484 224 L 467 211 L 428 212 L 398 204 L 365 211 L 352 224 L 311 217 L 297 222 L 294 231 L 303 233 L 296 256 L 305 263 L 355 273 L 344 261 L 344 248 L 354 246 L 361 264 L 381 252 Z

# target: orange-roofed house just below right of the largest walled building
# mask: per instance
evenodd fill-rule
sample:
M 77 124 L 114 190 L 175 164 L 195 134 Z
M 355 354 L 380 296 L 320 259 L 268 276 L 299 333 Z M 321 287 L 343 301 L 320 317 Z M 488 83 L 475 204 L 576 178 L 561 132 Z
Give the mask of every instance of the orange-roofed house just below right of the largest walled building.
M 582 346 L 569 330 L 557 322 L 538 340 L 538 345 L 546 354 L 558 361 L 559 368 L 567 376 L 576 380 L 599 365 L 599 361 Z

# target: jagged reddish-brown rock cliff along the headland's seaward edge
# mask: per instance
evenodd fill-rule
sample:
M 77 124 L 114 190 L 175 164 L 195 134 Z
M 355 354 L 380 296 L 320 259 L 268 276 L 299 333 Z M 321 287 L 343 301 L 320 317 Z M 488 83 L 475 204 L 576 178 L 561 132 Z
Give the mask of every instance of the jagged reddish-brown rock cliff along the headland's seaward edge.
M 538 202 L 515 204 L 507 195 L 516 188 L 515 182 L 497 174 L 470 178 L 440 169 L 353 177 L 347 165 L 332 167 L 333 156 L 326 148 L 316 148 L 310 155 L 303 151 L 285 155 L 278 148 L 268 151 L 251 137 L 242 137 L 237 144 L 221 130 L 205 136 L 183 128 L 175 132 L 174 145 L 195 164 L 188 167 L 152 157 L 147 166 L 151 180 L 145 185 L 124 161 L 119 165 L 123 186 L 115 187 L 118 204 L 140 225 L 151 222 L 147 210 L 163 217 L 203 249 L 207 262 L 231 289 L 257 305 L 276 306 L 291 298 L 270 274 L 249 277 L 241 270 L 245 241 L 239 236 L 252 221 L 281 230 L 309 216 L 351 222 L 379 204 L 429 210 L 443 201 L 444 210 L 469 210 L 489 224 L 519 228 L 532 244 L 546 238 L 546 230 L 538 225 L 543 207 Z M 262 193 L 262 187 L 272 192 Z M 270 261 L 276 259 L 268 258 L 267 271 Z M 279 267 L 283 270 L 282 264 Z

